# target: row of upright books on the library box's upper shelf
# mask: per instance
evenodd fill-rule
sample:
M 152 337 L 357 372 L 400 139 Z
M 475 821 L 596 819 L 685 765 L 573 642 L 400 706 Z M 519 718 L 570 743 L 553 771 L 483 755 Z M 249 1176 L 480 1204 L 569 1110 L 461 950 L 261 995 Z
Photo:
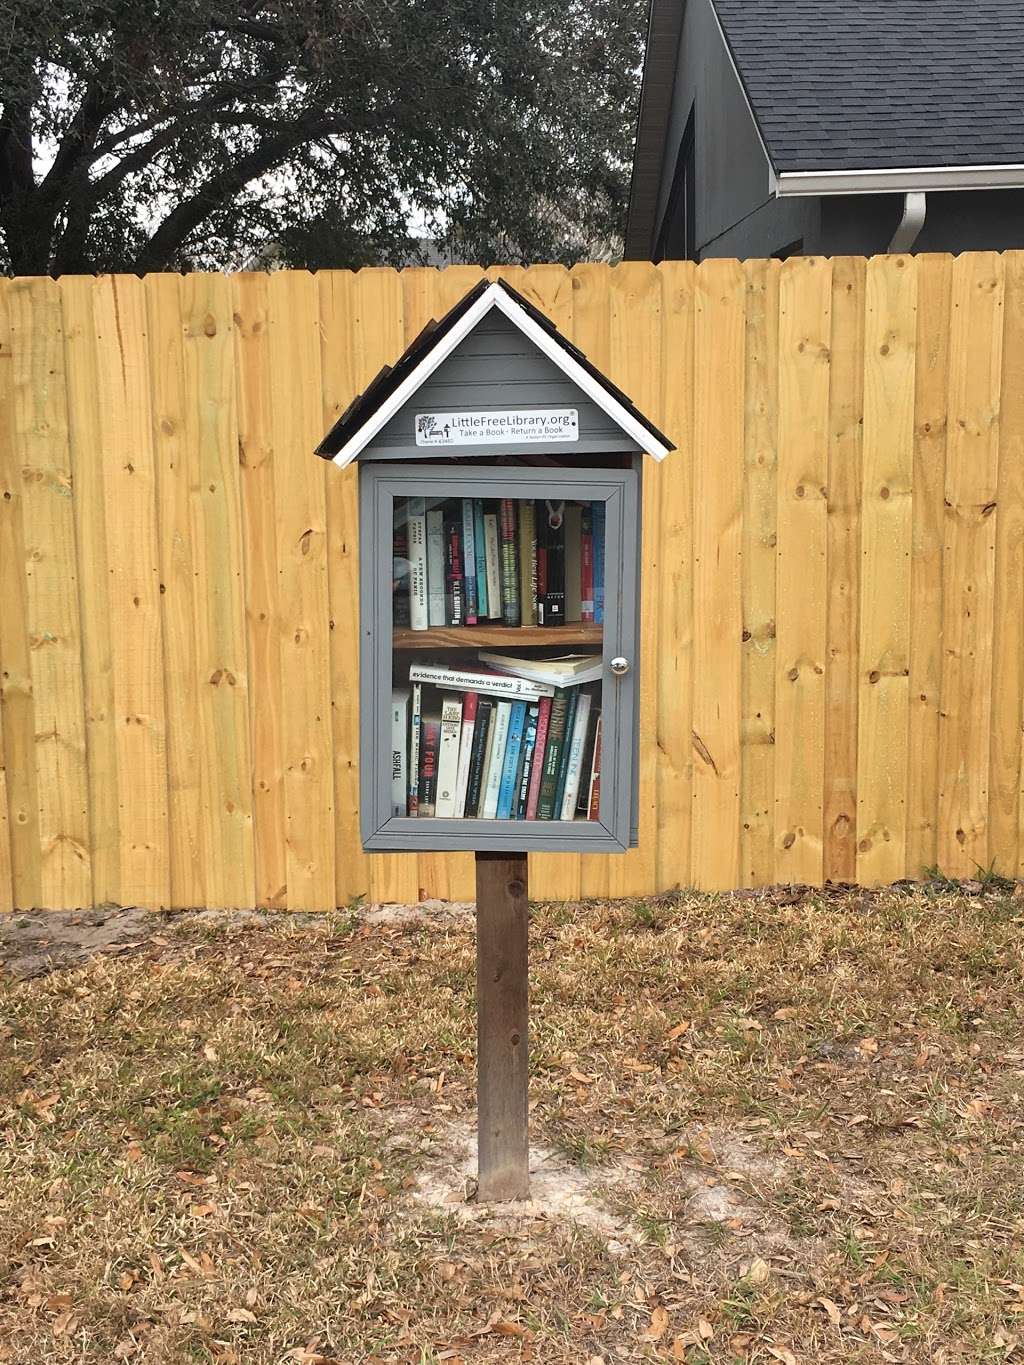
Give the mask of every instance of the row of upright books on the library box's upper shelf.
M 393 550 L 396 627 L 603 621 L 603 502 L 400 498 Z

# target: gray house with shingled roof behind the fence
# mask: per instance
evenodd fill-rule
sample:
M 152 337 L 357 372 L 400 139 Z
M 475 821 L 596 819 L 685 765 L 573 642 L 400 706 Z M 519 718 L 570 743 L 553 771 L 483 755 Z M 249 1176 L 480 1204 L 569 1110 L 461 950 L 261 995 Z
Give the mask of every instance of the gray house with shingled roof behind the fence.
M 627 259 L 1009 247 L 1020 0 L 651 0 Z

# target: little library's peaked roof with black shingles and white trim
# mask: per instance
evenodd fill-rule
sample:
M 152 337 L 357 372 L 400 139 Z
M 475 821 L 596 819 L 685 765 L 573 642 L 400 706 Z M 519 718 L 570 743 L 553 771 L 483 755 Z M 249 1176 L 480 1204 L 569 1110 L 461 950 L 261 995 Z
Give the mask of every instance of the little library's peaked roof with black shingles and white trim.
M 642 449 L 662 460 L 676 446 L 572 345 L 550 318 L 504 280 L 481 280 L 453 308 L 427 322 L 393 366 L 385 366 L 358 394 L 317 446 L 317 455 L 350 464 L 388 419 L 430 378 L 441 362 L 492 308 L 500 308 L 535 345 L 618 423 Z

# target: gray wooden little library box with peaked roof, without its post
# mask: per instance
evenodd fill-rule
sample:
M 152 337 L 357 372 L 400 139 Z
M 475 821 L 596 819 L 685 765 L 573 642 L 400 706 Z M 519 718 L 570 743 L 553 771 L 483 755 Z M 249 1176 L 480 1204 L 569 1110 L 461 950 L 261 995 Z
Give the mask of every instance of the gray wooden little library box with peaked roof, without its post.
M 367 850 L 636 844 L 640 475 L 672 444 L 481 281 L 341 415 Z

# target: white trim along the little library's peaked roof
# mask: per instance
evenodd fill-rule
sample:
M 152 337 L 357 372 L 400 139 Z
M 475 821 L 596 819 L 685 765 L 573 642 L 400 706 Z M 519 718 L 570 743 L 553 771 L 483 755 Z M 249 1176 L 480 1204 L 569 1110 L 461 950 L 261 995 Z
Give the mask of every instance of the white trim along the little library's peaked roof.
M 445 360 L 452 351 L 459 345 L 459 343 L 472 332 L 481 318 L 490 313 L 492 308 L 500 308 L 501 313 L 515 324 L 519 330 L 527 336 L 534 345 L 549 360 L 554 362 L 558 369 L 565 374 L 573 384 L 576 384 L 587 397 L 595 403 L 602 411 L 616 422 L 627 435 L 632 437 L 634 441 L 651 456 L 654 460 L 664 460 L 669 453 L 669 448 L 662 445 L 655 435 L 653 435 L 647 427 L 638 422 L 636 418 L 629 412 L 623 404 L 613 397 L 602 384 L 588 374 L 578 360 L 575 360 L 569 352 L 561 347 L 550 332 L 539 326 L 530 314 L 522 308 L 516 300 L 498 284 L 492 284 L 485 292 L 477 299 L 477 302 L 467 308 L 466 314 L 459 318 L 456 325 L 448 332 L 436 347 L 433 347 L 423 359 L 419 362 L 416 369 L 408 374 L 397 389 L 377 408 L 373 416 L 367 418 L 363 426 L 345 441 L 337 455 L 333 457 L 335 464 L 340 464 L 341 468 L 351 464 L 352 460 L 373 441 L 377 433 L 395 416 L 395 414 L 401 408 L 416 392 L 416 389 L 423 385 L 434 370 Z

